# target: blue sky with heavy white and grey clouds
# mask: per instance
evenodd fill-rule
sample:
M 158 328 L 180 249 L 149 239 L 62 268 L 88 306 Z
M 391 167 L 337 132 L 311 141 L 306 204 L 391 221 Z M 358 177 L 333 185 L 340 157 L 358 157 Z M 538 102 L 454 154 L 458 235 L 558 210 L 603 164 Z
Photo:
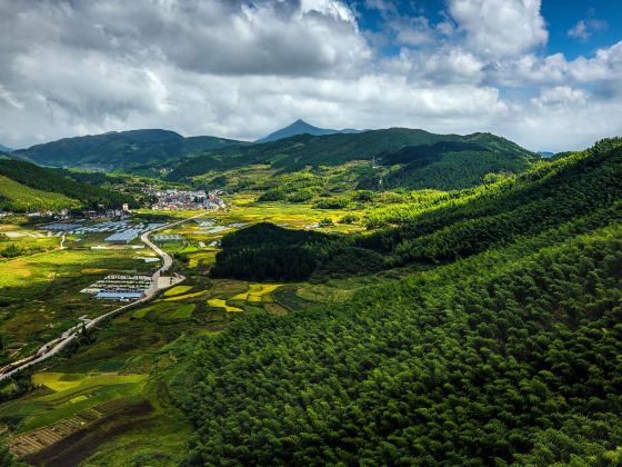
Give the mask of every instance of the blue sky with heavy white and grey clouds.
M 0 0 L 0 143 L 136 128 L 255 139 L 622 135 L 613 0 Z

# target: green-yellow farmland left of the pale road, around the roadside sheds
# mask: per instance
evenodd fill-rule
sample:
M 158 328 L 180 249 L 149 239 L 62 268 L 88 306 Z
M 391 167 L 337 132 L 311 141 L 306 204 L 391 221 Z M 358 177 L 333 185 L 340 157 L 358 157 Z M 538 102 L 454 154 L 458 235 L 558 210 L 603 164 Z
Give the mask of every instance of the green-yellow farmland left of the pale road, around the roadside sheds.
M 29 355 L 81 317 L 92 319 L 118 306 L 80 294 L 107 272 L 140 274 L 152 268 L 128 250 L 66 249 L 0 260 L 3 361 Z

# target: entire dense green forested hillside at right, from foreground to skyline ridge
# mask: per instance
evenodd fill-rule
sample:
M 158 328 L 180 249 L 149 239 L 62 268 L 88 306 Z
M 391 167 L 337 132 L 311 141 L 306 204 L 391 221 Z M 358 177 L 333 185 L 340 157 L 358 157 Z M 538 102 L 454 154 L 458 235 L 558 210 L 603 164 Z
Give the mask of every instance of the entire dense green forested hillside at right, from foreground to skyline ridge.
M 443 266 L 207 339 L 188 464 L 619 465 L 621 168 L 605 140 L 404 208 L 355 245 Z

